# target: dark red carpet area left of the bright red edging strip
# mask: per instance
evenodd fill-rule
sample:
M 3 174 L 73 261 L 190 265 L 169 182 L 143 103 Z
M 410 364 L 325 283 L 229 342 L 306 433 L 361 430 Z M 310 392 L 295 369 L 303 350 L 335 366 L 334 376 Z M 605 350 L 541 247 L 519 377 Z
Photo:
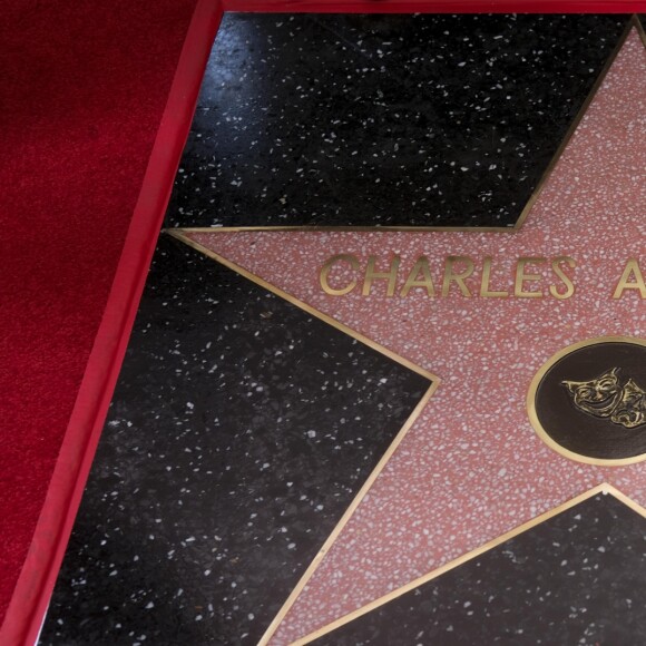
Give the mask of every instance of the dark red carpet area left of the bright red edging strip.
M 41 511 L 196 0 L 3 4 L 0 618 Z

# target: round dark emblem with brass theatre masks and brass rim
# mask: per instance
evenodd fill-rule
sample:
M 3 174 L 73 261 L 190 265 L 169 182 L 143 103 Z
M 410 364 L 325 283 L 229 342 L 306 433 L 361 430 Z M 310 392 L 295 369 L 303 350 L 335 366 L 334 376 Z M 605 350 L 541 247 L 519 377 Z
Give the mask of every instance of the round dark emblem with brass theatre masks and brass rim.
M 646 460 L 646 340 L 601 336 L 557 352 L 531 381 L 527 411 L 540 439 L 571 460 Z

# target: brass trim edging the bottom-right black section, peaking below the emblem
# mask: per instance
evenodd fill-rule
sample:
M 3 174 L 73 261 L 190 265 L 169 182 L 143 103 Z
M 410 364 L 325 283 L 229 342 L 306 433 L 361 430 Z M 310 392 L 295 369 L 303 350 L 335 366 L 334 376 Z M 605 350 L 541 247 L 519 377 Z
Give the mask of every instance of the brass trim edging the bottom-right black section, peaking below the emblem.
M 362 606 L 361 608 L 354 610 L 353 613 L 349 613 L 348 615 L 340 617 L 335 621 L 322 626 L 321 628 L 314 630 L 313 633 L 310 633 L 305 637 L 301 637 L 300 639 L 292 642 L 290 646 L 305 646 L 305 644 L 310 644 L 314 639 L 323 637 L 324 635 L 327 635 L 329 633 L 335 630 L 336 628 L 341 628 L 341 626 L 344 626 L 345 624 L 349 624 L 350 621 L 358 619 L 363 615 L 366 615 L 368 613 L 383 606 L 384 604 L 388 604 L 389 601 L 392 601 L 393 599 L 401 597 L 407 593 L 410 593 L 411 590 L 418 588 L 419 586 L 431 581 L 432 579 L 446 574 L 447 571 L 452 570 L 453 568 L 461 566 L 478 556 L 481 556 L 482 554 L 493 549 L 495 547 L 502 545 L 507 540 L 515 538 L 520 534 L 525 534 L 529 529 L 532 529 L 538 525 L 541 525 L 546 520 L 549 520 L 550 518 L 554 518 L 555 516 L 558 516 L 559 513 L 567 511 L 568 509 L 571 509 L 572 507 L 576 507 L 580 502 L 584 502 L 585 500 L 588 500 L 589 498 L 593 498 L 598 493 L 614 496 L 617 500 L 629 507 L 633 511 L 646 518 L 646 509 L 644 507 L 642 507 L 640 505 L 638 505 L 637 502 L 635 502 L 634 500 L 632 500 L 630 498 L 628 498 L 627 496 L 615 489 L 615 487 L 613 487 L 611 484 L 604 482 L 577 496 L 576 498 L 572 498 L 571 500 L 568 500 L 567 502 L 564 502 L 558 507 L 555 507 L 554 509 L 550 509 L 549 511 L 546 511 L 545 513 L 541 513 L 540 516 L 532 518 L 528 522 L 525 522 L 519 527 L 503 534 L 502 536 L 499 536 L 498 538 L 495 538 L 493 540 L 486 542 L 484 545 L 462 555 L 461 557 L 458 557 L 457 559 L 453 559 L 448 564 L 434 570 L 431 570 L 430 572 L 412 580 L 405 586 L 397 588 L 395 590 L 392 590 L 391 593 L 380 597 L 379 599 L 375 599 L 374 601 L 371 601 L 370 604 Z

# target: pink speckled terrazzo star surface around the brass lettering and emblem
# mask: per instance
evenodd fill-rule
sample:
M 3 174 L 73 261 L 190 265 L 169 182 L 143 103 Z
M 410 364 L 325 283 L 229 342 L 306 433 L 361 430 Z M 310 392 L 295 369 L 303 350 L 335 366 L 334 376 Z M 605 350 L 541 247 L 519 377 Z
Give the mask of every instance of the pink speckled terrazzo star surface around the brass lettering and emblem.
M 636 29 L 516 233 L 189 233 L 195 242 L 439 375 L 441 384 L 309 581 L 273 643 L 285 644 L 482 546 L 538 515 L 608 482 L 646 506 L 646 462 L 597 467 L 549 449 L 526 411 L 531 379 L 557 351 L 605 335 L 644 336 L 638 290 L 613 300 L 629 257 L 646 266 L 646 50 Z M 394 297 L 385 281 L 369 296 L 324 293 L 320 270 L 334 254 L 362 266 L 402 258 Z M 398 296 L 425 255 L 440 291 L 446 256 L 476 271 L 449 297 Z M 479 295 L 483 258 L 491 290 Z M 513 297 L 519 256 L 570 256 L 572 297 L 549 295 L 549 262 L 531 273 L 541 298 Z M 349 276 L 340 267 L 334 284 Z M 345 282 L 345 283 L 344 283 Z M 562 291 L 562 283 L 556 282 Z

